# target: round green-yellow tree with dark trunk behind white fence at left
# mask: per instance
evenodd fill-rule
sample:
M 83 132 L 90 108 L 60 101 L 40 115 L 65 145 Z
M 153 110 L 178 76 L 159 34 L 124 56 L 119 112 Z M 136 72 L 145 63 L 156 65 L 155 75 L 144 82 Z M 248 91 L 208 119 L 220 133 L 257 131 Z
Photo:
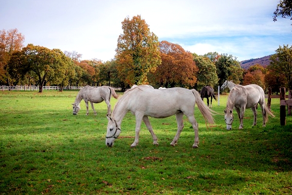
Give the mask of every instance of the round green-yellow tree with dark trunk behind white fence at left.
M 48 82 L 60 84 L 71 62 L 59 49 L 50 50 L 33 44 L 24 47 L 22 55 L 25 56 L 25 66 L 38 77 L 39 92 L 43 91 L 43 86 Z

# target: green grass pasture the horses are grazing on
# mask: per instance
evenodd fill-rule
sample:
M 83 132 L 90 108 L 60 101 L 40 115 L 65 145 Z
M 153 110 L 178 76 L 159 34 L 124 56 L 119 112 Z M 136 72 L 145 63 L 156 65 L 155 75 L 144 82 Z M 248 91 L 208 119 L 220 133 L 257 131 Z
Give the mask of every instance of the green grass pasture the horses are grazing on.
M 215 124 L 205 125 L 197 106 L 199 148 L 192 148 L 194 131 L 184 117 L 176 146 L 175 116 L 149 118 L 158 137 L 153 145 L 142 124 L 134 141 L 135 118 L 124 118 L 113 147 L 105 144 L 107 105 L 95 104 L 73 115 L 78 91 L 0 91 L 0 194 L 292 194 L 292 116 L 280 126 L 279 99 L 272 99 L 275 118 L 262 127 L 247 109 L 243 129 L 235 115 L 226 130 L 224 109 L 213 107 Z M 120 93 L 122 95 L 122 93 Z M 112 108 L 117 100 L 111 98 Z M 204 99 L 206 103 L 206 99 Z

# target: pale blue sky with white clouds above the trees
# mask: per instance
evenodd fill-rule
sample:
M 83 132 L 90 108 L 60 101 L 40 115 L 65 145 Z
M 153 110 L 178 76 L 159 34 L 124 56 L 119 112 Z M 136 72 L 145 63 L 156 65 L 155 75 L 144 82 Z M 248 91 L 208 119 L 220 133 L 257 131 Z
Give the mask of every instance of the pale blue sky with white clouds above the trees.
M 279 0 L 0 0 L 0 30 L 18 29 L 24 45 L 114 58 L 121 22 L 140 15 L 159 41 L 238 61 L 292 45 L 292 20 L 273 13 Z

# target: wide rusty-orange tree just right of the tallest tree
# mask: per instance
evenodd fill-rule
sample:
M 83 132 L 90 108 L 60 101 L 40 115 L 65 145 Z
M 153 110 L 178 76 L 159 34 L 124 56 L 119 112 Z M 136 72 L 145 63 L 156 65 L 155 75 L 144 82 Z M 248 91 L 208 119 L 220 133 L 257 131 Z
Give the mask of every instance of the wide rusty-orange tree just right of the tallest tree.
M 160 42 L 162 63 L 151 76 L 151 81 L 160 87 L 194 87 L 198 71 L 192 53 L 182 46 L 167 41 Z M 152 83 L 152 82 L 151 82 Z

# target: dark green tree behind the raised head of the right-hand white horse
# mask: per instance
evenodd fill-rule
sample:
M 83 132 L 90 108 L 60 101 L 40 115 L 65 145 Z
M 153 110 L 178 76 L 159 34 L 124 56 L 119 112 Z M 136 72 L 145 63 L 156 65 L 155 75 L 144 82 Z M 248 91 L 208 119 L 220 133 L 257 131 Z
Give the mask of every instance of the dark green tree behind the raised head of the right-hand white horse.
M 236 57 L 223 53 L 215 63 L 219 85 L 221 86 L 225 80 L 233 80 L 234 83 L 240 83 L 243 70 L 239 65 Z

